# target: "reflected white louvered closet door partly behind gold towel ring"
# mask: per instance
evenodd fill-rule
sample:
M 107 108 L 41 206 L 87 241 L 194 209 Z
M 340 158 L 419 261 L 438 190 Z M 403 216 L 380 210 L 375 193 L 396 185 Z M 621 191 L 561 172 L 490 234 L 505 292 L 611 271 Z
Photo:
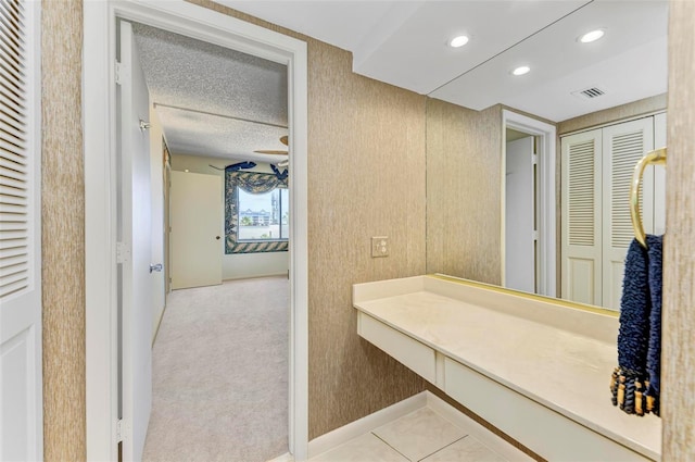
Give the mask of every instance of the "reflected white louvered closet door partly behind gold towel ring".
M 603 129 L 603 305 L 620 308 L 624 260 L 634 238 L 630 187 L 635 164 L 654 149 L 653 117 Z M 645 171 L 640 193 L 647 233 L 654 223 L 654 168 Z M 644 205 L 644 207 L 643 207 Z

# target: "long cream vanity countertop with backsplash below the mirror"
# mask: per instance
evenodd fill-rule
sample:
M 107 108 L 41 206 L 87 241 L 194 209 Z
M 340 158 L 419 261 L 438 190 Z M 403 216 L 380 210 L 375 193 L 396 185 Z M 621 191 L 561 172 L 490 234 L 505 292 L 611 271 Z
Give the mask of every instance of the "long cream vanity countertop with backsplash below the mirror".
M 617 364 L 615 317 L 566 307 L 558 311 L 558 307 L 549 307 L 552 303 L 489 292 L 490 304 L 506 301 L 507 308 L 486 308 L 488 303 L 481 303 L 485 290 L 480 287 L 433 276 L 355 285 L 354 305 L 508 388 L 660 460 L 660 419 L 628 415 L 610 402 L 608 385 Z M 467 298 L 475 303 L 466 301 Z M 535 309 L 533 303 L 538 305 Z M 516 311 L 515 305 L 525 308 Z M 573 320 L 565 329 L 539 322 L 539 313 L 541 319 L 544 314 L 557 319 L 563 311 L 573 311 L 571 316 L 580 319 L 585 316 L 584 325 Z M 584 335 L 591 323 L 603 323 L 603 337 L 606 325 L 615 324 L 612 342 Z

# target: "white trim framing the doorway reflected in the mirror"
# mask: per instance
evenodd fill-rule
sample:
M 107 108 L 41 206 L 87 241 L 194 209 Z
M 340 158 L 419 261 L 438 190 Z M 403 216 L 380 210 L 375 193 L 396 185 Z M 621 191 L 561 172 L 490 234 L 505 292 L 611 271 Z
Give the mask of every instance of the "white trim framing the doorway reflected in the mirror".
M 556 197 L 555 197 L 555 151 L 557 146 L 557 130 L 554 125 L 538 121 L 526 115 L 517 114 L 508 110 L 502 111 L 502 201 L 504 202 L 505 190 L 505 165 L 506 165 L 506 129 L 528 133 L 539 136 L 539 252 L 540 252 L 540 277 L 539 294 L 547 297 L 555 297 L 557 294 L 557 262 L 556 262 Z M 505 273 L 505 207 L 502 207 L 502 282 L 504 285 Z

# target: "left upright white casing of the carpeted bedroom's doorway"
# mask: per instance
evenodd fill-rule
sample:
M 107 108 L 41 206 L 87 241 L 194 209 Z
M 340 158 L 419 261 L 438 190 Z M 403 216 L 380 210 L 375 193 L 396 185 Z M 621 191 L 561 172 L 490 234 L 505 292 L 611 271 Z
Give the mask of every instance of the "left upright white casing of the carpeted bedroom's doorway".
M 111 172 L 113 107 L 106 2 L 84 2 L 85 284 L 87 460 L 115 460 L 115 207 Z M 87 101 L 90 104 L 87 104 Z

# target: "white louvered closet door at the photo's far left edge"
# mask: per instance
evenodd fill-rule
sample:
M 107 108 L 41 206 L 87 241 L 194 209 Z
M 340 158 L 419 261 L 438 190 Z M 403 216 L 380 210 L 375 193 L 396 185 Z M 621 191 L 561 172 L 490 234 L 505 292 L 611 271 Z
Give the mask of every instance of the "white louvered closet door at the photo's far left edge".
M 0 0 L 0 460 L 42 460 L 40 2 Z

